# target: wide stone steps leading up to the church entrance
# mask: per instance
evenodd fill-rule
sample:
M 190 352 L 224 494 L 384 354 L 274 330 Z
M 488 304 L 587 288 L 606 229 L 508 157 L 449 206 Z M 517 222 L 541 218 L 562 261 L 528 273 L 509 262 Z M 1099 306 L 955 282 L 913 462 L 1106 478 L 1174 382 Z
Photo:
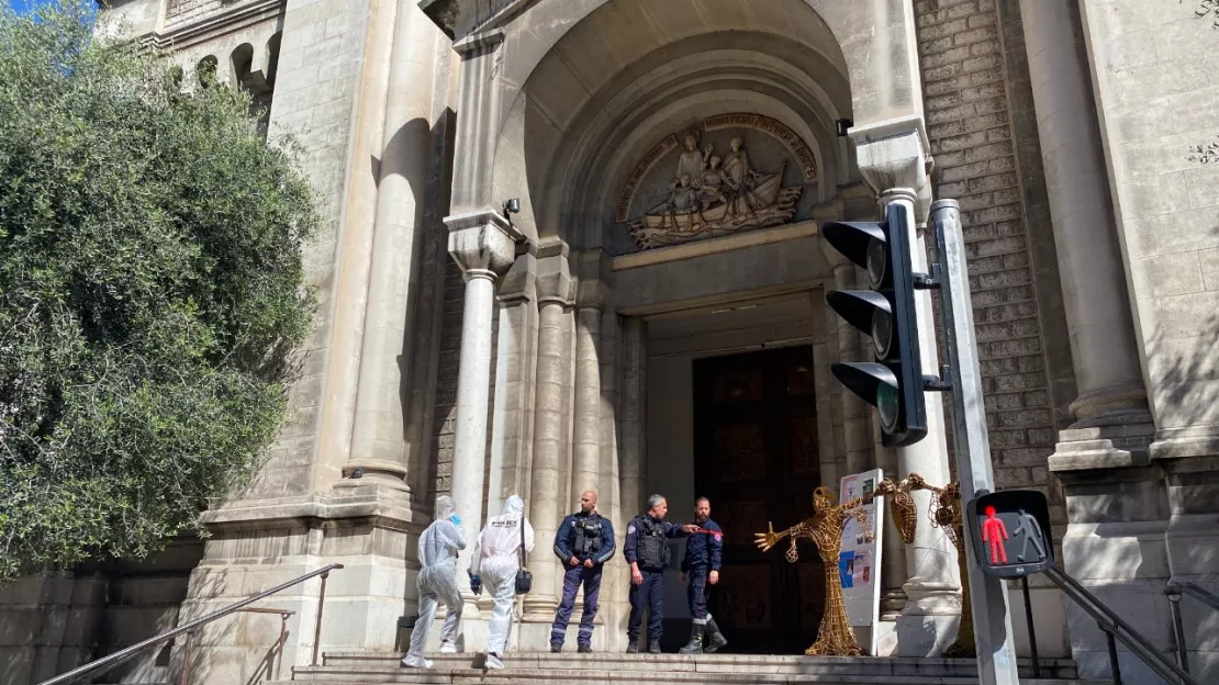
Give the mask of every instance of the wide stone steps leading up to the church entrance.
M 430 655 L 432 669 L 399 665 L 400 653 L 330 652 L 323 665 L 296 667 L 291 680 L 279 685 L 372 685 L 375 683 L 429 684 L 542 684 L 607 685 L 611 683 L 803 684 L 820 685 L 974 685 L 973 659 L 837 658 L 751 655 L 558 655 L 511 652 L 503 670 L 472 668 L 472 655 Z M 1030 659 L 1020 659 L 1022 685 L 1111 685 L 1109 680 L 1080 680 L 1070 659 L 1042 659 L 1041 678 L 1032 678 Z M 271 683 L 268 685 L 275 685 Z

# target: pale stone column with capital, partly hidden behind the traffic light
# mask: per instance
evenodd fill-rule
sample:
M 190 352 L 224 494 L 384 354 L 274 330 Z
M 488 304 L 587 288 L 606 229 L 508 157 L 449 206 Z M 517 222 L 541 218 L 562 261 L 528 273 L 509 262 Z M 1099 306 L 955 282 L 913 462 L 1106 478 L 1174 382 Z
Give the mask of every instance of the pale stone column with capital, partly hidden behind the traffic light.
M 852 129 L 859 171 L 887 208 L 904 206 L 912 221 L 926 216 L 930 185 L 922 119 L 911 117 L 874 127 Z M 914 235 L 912 235 L 912 239 Z M 926 245 L 922 234 L 913 240 L 913 269 L 928 273 Z M 917 291 L 919 349 L 923 373 L 940 373 L 935 340 L 935 319 L 931 316 L 931 295 Z M 897 449 L 897 475 L 906 478 L 919 473 L 928 481 L 945 484 L 951 477 L 948 449 L 945 440 L 944 407 L 935 395 L 926 402 L 926 438 L 908 447 Z M 914 494 L 917 511 L 928 511 L 931 495 Z M 919 525 L 914 542 L 907 548 L 908 578 L 903 589 L 909 598 L 897 619 L 898 653 L 928 657 L 941 653 L 956 635 L 961 616 L 961 581 L 957 573 L 957 551 L 948 539 L 930 525 Z

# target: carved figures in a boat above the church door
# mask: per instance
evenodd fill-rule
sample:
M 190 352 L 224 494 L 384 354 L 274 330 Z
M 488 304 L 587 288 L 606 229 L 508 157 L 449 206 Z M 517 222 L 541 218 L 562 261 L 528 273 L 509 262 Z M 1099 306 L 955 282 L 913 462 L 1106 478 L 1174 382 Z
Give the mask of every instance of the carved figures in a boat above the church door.
M 766 122 L 772 128 L 781 126 L 772 119 Z M 789 138 L 795 139 L 795 143 L 784 140 L 789 147 L 798 144 L 797 161 L 798 155 L 811 158 L 807 146 L 790 130 L 784 130 Z M 716 154 L 711 143 L 700 149 L 700 141 L 696 129 L 681 135 L 677 168 L 668 182 L 668 194 L 663 202 L 647 208 L 644 216 L 635 219 L 619 216 L 640 247 L 675 245 L 737 230 L 767 228 L 791 221 L 796 215 L 796 202 L 803 186 L 781 188 L 786 161 L 766 173 L 750 166 L 744 135 L 734 135 L 723 156 Z M 805 167 L 801 168 L 808 173 Z M 634 178 L 641 176 L 638 171 Z M 623 207 L 628 205 L 629 196 L 623 200 Z

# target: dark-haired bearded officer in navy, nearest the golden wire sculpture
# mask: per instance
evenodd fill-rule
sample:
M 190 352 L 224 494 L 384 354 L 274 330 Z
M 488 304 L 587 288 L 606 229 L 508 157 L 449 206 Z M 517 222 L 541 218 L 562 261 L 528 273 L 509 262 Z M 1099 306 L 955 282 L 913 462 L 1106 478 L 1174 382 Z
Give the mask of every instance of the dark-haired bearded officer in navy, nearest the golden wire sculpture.
M 681 559 L 681 583 L 686 583 L 686 602 L 694 626 L 690 642 L 678 650 L 683 655 L 708 655 L 728 645 L 728 640 L 707 613 L 707 585 L 719 583 L 719 564 L 724 558 L 724 530 L 711 520 L 711 500 L 698 497 L 694 503 L 694 520 L 698 530 L 686 540 L 686 556 Z M 706 646 L 703 640 L 706 639 Z

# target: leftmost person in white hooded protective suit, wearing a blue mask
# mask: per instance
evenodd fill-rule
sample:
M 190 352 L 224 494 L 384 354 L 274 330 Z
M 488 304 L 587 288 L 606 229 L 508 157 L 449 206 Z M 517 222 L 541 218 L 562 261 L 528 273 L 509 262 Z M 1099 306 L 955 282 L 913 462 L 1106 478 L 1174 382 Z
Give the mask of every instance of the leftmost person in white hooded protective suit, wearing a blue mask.
M 453 501 L 446 495 L 436 497 L 436 519 L 419 535 L 419 619 L 411 631 L 410 655 L 423 656 L 428 630 L 436 617 L 436 600 L 449 608 L 445 624 L 440 629 L 440 641 L 452 644 L 457 639 L 461 623 L 462 600 L 457 591 L 457 551 L 466 548 L 466 536 L 460 525 L 449 517 L 453 514 Z

